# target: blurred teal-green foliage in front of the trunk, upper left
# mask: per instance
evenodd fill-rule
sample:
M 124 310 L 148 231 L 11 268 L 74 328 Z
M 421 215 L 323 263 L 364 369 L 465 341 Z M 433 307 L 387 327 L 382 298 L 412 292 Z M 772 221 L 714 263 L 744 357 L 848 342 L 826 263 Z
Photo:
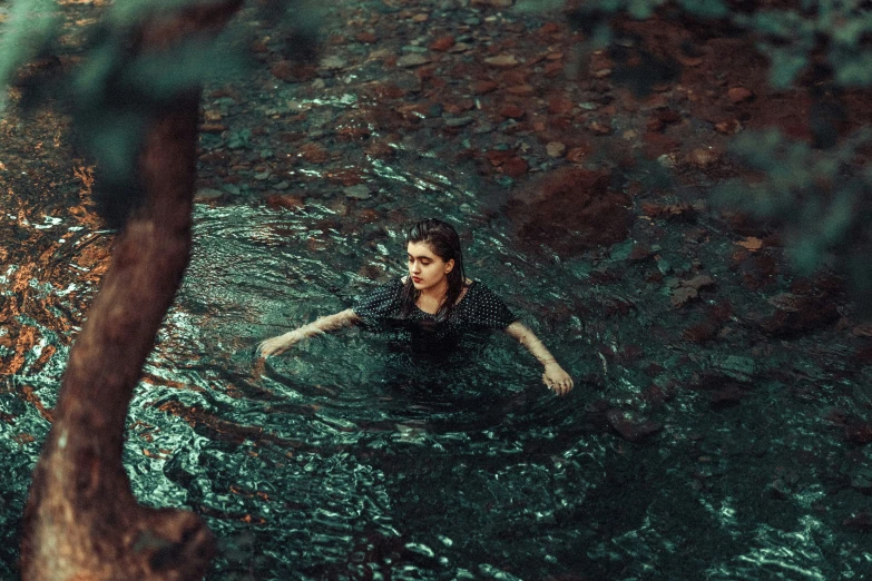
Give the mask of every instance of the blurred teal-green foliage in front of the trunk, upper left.
M 205 82 L 247 69 L 239 46 L 251 39 L 192 35 L 160 51 L 141 51 L 137 30 L 149 19 L 215 0 L 124 0 L 102 8 L 94 24 L 65 29 L 53 0 L 13 0 L 0 29 L 0 82 L 21 92 L 23 110 L 51 102 L 72 119 L 76 142 L 95 159 L 95 199 L 110 227 L 143 201 L 137 154 L 150 119 Z M 314 2 L 265 0 L 262 20 L 291 30 L 295 47 L 313 53 Z M 295 32 L 294 32 L 295 31 Z M 295 35 L 295 36 L 294 36 Z M 302 47 L 302 48 L 301 48 Z M 4 91 L 6 95 L 6 91 Z

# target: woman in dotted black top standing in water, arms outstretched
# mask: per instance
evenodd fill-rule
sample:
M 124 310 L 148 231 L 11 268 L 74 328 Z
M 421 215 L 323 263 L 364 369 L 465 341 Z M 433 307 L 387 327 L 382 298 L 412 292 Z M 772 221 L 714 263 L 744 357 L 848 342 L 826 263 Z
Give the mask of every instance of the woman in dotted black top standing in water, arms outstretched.
M 498 328 L 542 364 L 542 382 L 549 390 L 558 395 L 572 390 L 572 378 L 533 332 L 487 286 L 466 277 L 460 238 L 450 224 L 419 221 L 409 230 L 406 243 L 408 276 L 380 286 L 352 308 L 264 341 L 259 354 L 276 355 L 306 337 L 357 323 L 406 327 L 422 353 L 447 351 L 469 332 Z

